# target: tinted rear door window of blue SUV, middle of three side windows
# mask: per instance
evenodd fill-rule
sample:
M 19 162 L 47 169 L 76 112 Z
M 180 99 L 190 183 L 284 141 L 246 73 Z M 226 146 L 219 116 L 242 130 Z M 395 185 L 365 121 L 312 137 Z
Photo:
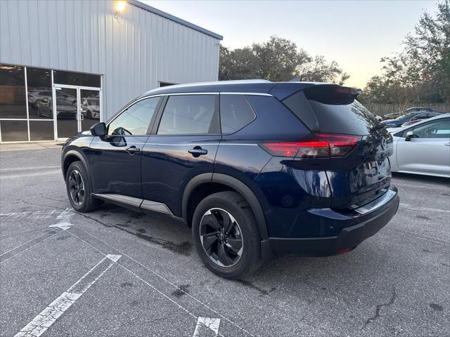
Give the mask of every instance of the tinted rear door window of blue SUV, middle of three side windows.
M 158 127 L 158 135 L 218 133 L 214 95 L 169 96 Z

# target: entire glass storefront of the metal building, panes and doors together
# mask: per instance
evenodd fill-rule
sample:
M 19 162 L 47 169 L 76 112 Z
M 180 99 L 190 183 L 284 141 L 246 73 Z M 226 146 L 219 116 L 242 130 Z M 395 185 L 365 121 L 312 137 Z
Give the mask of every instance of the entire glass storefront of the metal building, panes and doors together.
M 100 121 L 100 86 L 101 75 L 0 63 L 0 143 L 54 140 L 89 130 Z

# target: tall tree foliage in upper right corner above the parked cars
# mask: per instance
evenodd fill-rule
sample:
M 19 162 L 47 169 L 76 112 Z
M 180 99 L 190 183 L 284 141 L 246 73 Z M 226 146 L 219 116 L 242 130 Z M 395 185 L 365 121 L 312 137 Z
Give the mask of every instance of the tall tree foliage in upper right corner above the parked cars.
M 450 0 L 424 12 L 401 53 L 382 58 L 383 74 L 372 77 L 361 100 L 376 103 L 450 102 Z

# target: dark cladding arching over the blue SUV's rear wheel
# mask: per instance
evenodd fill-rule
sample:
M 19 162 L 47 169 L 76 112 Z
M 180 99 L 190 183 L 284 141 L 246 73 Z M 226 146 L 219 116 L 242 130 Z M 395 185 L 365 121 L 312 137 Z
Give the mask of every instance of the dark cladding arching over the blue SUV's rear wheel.
M 186 223 L 189 223 L 189 201 L 191 199 L 191 196 L 193 195 L 193 192 L 195 192 L 195 189 L 198 187 L 201 187 L 202 185 L 212 184 L 217 187 L 221 186 L 222 188 L 218 189 L 217 192 L 223 191 L 223 190 L 234 190 L 238 192 L 240 195 L 243 196 L 245 201 L 248 202 L 250 205 L 250 208 L 252 209 L 253 214 L 255 215 L 255 218 L 257 220 L 257 227 L 259 230 L 259 236 L 261 239 L 267 239 L 269 237 L 268 231 L 267 231 L 267 225 L 266 225 L 266 217 L 264 216 L 264 211 L 262 209 L 261 204 L 259 203 L 259 200 L 257 199 L 256 195 L 252 190 L 250 190 L 250 187 L 242 183 L 240 180 L 233 178 L 232 176 L 227 176 L 225 174 L 221 173 L 202 173 L 198 176 L 195 176 L 189 183 L 186 185 L 186 189 L 184 190 L 183 194 L 183 218 Z M 216 192 L 216 191 L 214 191 Z

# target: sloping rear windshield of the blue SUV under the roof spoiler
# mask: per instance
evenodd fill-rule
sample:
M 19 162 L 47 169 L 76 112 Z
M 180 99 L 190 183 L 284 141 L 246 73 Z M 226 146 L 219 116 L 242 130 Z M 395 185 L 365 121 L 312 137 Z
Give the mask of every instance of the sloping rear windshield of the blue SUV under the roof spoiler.
M 312 113 L 316 119 L 316 126 L 312 131 L 327 133 L 345 133 L 364 136 L 377 129 L 378 121 L 364 105 L 356 100 L 354 95 L 340 92 L 340 86 L 316 86 L 303 91 Z M 298 95 L 300 93 L 296 93 Z M 293 110 L 300 119 L 311 119 L 293 106 L 295 100 L 287 98 L 283 103 Z M 298 103 L 298 100 L 297 100 Z M 297 110 L 297 112 L 295 112 Z M 299 115 L 300 114 L 300 115 Z M 308 124 L 308 123 L 307 123 Z

